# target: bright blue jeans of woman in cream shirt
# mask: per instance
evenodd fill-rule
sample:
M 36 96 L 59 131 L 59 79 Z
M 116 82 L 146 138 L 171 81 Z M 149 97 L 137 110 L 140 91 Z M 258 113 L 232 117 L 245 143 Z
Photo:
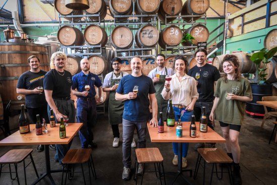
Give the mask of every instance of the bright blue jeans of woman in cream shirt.
M 185 110 L 185 108 L 178 108 L 173 106 L 173 110 L 175 113 L 175 121 L 178 121 L 181 117 L 181 111 Z M 181 117 L 181 121 L 191 121 L 191 115 L 193 114 L 193 111 L 186 110 Z M 173 153 L 174 155 L 178 155 L 178 143 L 172 143 L 173 145 Z M 187 156 L 187 150 L 188 150 L 188 143 L 182 143 L 182 157 Z

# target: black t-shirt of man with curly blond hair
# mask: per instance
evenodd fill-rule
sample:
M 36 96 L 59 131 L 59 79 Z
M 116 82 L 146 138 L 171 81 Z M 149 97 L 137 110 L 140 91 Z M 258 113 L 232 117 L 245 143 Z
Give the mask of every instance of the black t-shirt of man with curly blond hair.
M 72 75 L 70 72 L 65 70 L 64 73 L 59 73 L 56 70 L 50 70 L 46 73 L 43 84 L 44 89 L 53 91 L 53 98 L 70 97 Z

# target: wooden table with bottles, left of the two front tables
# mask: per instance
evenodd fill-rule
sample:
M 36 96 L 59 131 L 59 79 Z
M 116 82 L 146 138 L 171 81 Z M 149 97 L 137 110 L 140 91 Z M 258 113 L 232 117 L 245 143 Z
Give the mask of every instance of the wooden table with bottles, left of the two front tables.
M 37 136 L 35 131 L 35 124 L 30 125 L 30 133 L 27 134 L 20 134 L 19 131 L 15 132 L 14 134 L 8 136 L 7 138 L 0 141 L 0 146 L 11 146 L 11 145 L 44 145 L 44 152 L 45 152 L 45 173 L 42 174 L 36 181 L 32 184 L 38 183 L 42 178 L 48 176 L 51 184 L 55 184 L 51 173 L 53 172 L 60 172 L 59 170 L 51 170 L 50 167 L 50 158 L 49 158 L 49 145 L 53 144 L 61 144 L 65 145 L 70 143 L 70 141 L 74 138 L 76 133 L 80 130 L 83 126 L 82 123 L 78 124 L 68 124 L 66 126 L 66 138 L 60 139 L 59 138 L 59 124 L 56 124 L 56 127 L 48 126 L 48 133 L 43 133 L 42 135 Z

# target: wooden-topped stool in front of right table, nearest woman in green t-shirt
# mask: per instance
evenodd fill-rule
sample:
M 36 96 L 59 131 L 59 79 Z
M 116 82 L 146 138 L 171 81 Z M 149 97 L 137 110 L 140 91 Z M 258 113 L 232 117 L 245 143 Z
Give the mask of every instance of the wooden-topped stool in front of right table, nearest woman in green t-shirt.
M 195 179 L 197 176 L 198 168 L 201 162 L 201 159 L 204 159 L 204 165 L 203 165 L 203 184 L 205 184 L 205 163 L 213 163 L 212 167 L 212 174 L 211 174 L 211 179 L 210 179 L 210 184 L 212 184 L 212 178 L 213 178 L 213 173 L 214 167 L 216 165 L 216 173 L 218 179 L 222 179 L 223 176 L 223 167 L 221 167 L 221 177 L 219 178 L 218 176 L 218 169 L 217 169 L 217 163 L 228 163 L 228 173 L 229 173 L 229 178 L 230 178 L 230 183 L 233 184 L 232 180 L 232 173 L 231 173 L 231 163 L 233 163 L 233 160 L 227 155 L 227 153 L 222 150 L 221 148 L 198 148 L 198 157 L 195 165 L 195 170 L 194 170 L 194 175 L 193 178 Z

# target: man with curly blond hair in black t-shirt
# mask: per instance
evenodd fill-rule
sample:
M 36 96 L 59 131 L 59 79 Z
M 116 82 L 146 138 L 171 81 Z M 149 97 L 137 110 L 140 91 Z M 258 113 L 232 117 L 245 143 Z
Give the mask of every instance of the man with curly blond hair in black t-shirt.
M 68 117 L 68 122 L 75 122 L 75 106 L 72 98 L 72 75 L 64 70 L 66 64 L 66 55 L 63 52 L 57 51 L 52 54 L 50 59 L 50 70 L 46 73 L 43 85 L 45 98 L 48 103 L 48 115 L 50 109 L 56 121 L 60 121 L 60 117 Z M 72 140 L 73 141 L 73 140 Z M 56 145 L 57 152 L 54 157 L 56 162 L 61 164 L 63 157 L 70 149 L 72 141 L 68 145 Z

